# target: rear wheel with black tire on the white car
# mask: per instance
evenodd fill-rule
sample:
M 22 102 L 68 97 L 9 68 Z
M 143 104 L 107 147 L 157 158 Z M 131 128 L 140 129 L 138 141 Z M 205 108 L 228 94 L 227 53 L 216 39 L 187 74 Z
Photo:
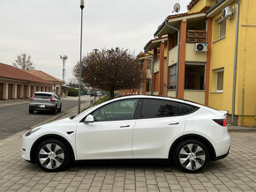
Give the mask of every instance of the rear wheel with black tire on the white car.
M 180 170 L 195 174 L 207 166 L 209 151 L 206 144 L 200 141 L 186 140 L 177 144 L 173 160 Z

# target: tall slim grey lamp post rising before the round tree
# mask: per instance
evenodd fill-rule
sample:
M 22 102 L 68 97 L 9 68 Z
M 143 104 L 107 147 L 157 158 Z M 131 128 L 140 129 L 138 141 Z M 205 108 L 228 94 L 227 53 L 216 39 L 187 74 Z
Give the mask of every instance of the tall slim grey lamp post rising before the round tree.
M 80 33 L 80 63 L 79 63 L 79 106 L 78 114 L 80 113 L 81 105 L 81 76 L 82 76 L 82 37 L 83 37 L 83 9 L 85 7 L 84 0 L 80 0 L 80 9 L 81 9 L 81 33 Z

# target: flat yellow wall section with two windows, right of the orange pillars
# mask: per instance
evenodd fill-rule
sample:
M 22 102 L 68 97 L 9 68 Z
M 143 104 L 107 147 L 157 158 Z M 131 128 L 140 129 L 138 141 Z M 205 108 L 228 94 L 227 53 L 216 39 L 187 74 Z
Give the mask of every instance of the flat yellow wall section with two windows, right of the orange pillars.
M 207 18 L 212 19 L 208 104 L 229 110 L 233 124 L 255 126 L 256 1 L 220 1 Z

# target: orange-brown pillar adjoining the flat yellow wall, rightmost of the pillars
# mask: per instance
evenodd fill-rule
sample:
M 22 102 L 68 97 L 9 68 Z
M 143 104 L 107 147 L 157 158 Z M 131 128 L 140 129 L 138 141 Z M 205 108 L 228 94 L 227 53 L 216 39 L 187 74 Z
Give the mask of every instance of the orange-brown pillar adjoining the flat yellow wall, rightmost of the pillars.
M 205 105 L 209 104 L 209 78 L 211 66 L 211 47 L 212 47 L 212 24 L 213 18 L 207 18 L 207 66 L 206 66 L 206 84 L 205 84 Z

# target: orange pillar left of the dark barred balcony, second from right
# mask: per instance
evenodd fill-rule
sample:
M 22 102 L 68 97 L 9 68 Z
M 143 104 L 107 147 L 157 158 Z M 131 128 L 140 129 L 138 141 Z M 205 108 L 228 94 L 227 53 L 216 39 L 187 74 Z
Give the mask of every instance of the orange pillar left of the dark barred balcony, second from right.
M 185 64 L 185 43 L 186 43 L 186 21 L 181 21 L 179 44 L 179 63 L 177 79 L 177 98 L 184 99 L 184 64 Z

